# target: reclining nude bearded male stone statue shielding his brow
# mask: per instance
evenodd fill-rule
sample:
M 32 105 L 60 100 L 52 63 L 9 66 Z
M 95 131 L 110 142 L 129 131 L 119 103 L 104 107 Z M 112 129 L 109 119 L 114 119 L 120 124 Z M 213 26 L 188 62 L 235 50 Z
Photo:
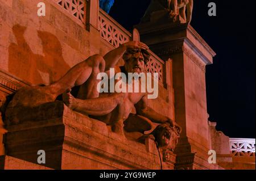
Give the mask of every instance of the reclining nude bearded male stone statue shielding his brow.
M 16 92 L 7 106 L 7 124 L 22 123 L 20 117 L 23 116 L 23 110 L 54 102 L 57 96 L 63 94 L 63 101 L 71 110 L 103 121 L 110 125 L 113 132 L 122 136 L 124 136 L 124 124 L 127 132 L 139 132 L 140 136 L 143 136 L 145 131 L 150 131 L 153 128 L 152 122 L 168 123 L 170 130 L 179 129 L 176 132 L 178 136 L 181 129 L 173 120 L 148 107 L 147 92 L 100 94 L 97 90 L 97 85 L 100 82 L 97 75 L 102 72 L 108 73 L 110 68 L 115 68 L 116 73 L 119 71 L 123 73 L 144 72 L 145 66 L 150 60 L 147 49 L 147 45 L 140 41 L 129 41 L 110 51 L 104 57 L 96 54 L 80 62 L 59 81 L 49 86 L 24 87 Z M 125 66 L 115 66 L 121 57 L 125 60 Z M 70 92 L 74 86 L 80 86 L 76 98 Z M 170 137 L 168 134 L 167 138 L 169 140 L 176 139 L 177 136 Z M 164 139 L 164 137 L 162 138 Z

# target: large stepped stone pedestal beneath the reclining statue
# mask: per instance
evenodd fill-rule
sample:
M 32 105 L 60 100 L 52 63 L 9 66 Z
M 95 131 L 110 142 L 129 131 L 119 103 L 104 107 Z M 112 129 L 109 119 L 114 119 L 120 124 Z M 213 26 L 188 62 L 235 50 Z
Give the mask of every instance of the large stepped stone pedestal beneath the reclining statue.
M 160 169 L 152 140 L 146 144 L 127 140 L 62 102 L 48 103 L 31 114 L 37 115 L 35 121 L 7 127 L 6 155 L 39 165 L 38 150 L 44 150 L 46 164 L 42 165 L 51 169 Z M 170 154 L 163 169 L 174 169 L 175 159 Z

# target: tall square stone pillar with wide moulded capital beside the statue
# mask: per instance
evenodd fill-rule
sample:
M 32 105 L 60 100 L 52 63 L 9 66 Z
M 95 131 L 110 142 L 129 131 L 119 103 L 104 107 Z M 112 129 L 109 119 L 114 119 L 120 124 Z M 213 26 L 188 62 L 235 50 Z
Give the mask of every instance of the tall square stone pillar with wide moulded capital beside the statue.
M 152 52 L 164 61 L 172 60 L 175 120 L 183 128 L 175 150 L 177 169 L 213 168 L 208 163 L 211 140 L 205 66 L 212 64 L 216 53 L 187 23 L 172 23 L 153 15 L 155 12 L 136 28 Z

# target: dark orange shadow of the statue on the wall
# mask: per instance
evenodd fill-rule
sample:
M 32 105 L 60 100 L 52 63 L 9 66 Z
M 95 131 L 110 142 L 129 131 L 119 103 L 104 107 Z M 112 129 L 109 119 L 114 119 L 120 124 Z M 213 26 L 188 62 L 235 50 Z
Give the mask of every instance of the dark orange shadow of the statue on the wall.
M 19 24 L 13 26 L 17 44 L 9 46 L 10 73 L 36 85 L 57 81 L 70 69 L 64 61 L 60 41 L 52 33 L 37 31 L 44 56 L 34 54 L 24 38 L 26 29 Z

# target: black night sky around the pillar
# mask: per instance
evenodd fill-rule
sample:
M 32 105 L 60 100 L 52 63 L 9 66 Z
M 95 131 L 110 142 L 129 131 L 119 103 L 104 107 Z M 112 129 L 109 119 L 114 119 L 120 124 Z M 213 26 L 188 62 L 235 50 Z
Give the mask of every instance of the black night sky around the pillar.
M 209 2 L 217 5 L 215 17 Z M 115 0 L 109 14 L 132 30 L 149 4 Z M 229 137 L 255 138 L 255 0 L 194 0 L 191 25 L 217 53 L 206 73 L 209 120 Z

